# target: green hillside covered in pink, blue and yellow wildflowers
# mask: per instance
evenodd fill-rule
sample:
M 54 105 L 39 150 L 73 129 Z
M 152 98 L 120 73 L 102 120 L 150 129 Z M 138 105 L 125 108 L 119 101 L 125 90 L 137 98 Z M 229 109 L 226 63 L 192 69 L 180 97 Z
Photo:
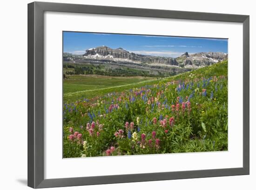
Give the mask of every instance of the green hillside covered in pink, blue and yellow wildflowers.
M 227 74 L 223 61 L 163 79 L 87 79 L 82 91 L 64 82 L 64 157 L 226 151 Z

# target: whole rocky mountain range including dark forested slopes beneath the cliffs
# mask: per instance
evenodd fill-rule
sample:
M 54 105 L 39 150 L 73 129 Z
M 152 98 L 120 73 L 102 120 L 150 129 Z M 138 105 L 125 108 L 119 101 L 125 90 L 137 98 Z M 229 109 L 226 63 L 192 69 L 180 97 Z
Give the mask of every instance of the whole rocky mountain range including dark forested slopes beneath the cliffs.
M 109 76 L 171 76 L 228 59 L 222 52 L 183 53 L 177 58 L 141 55 L 119 47 L 100 46 L 83 55 L 63 53 L 63 63 L 81 67 L 82 73 Z M 75 64 L 75 66 L 70 65 Z

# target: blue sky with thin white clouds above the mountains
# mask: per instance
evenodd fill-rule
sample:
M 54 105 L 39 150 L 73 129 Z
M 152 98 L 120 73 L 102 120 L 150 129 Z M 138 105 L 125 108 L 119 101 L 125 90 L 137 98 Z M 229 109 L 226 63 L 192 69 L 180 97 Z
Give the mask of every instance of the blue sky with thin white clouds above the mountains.
M 83 54 L 89 48 L 122 47 L 129 52 L 176 58 L 184 52 L 228 53 L 228 39 L 63 32 L 63 51 Z

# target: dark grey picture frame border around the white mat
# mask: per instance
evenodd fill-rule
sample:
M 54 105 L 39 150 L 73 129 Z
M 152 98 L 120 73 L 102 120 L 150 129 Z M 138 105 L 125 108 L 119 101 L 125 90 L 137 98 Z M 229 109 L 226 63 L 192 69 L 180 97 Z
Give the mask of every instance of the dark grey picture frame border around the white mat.
M 112 176 L 44 178 L 44 12 L 243 23 L 243 167 Z M 32 2 L 28 4 L 28 186 L 63 187 L 249 174 L 249 15 Z

